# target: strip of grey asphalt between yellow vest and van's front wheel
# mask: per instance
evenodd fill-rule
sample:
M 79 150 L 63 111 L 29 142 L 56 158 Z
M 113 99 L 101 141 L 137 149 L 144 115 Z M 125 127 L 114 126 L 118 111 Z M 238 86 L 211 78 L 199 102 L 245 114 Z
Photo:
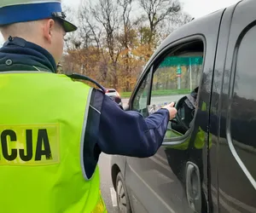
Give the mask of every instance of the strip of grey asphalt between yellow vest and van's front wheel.
M 116 196 L 110 175 L 110 156 L 102 153 L 99 166 L 101 172 L 102 198 L 105 201 L 109 213 L 118 213 Z

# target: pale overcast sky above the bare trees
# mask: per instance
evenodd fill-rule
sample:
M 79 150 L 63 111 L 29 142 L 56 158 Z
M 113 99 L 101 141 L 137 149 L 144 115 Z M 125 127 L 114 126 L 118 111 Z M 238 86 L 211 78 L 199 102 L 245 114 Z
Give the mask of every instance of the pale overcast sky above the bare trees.
M 62 3 L 78 9 L 81 1 L 83 0 L 62 0 Z M 180 0 L 180 2 L 183 3 L 184 11 L 191 14 L 194 18 L 199 18 L 218 9 L 223 9 L 231 4 L 235 4 L 239 2 L 239 0 Z M 0 43 L 3 43 L 3 37 L 1 35 Z

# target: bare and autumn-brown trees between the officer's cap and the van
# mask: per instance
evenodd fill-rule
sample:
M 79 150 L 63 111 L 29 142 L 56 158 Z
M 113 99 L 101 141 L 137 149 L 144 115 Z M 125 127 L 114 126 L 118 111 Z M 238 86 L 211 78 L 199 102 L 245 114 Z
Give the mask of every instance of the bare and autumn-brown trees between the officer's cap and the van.
M 78 12 L 66 12 L 79 30 L 66 37 L 63 71 L 119 91 L 131 91 L 154 49 L 191 20 L 174 0 L 84 1 Z

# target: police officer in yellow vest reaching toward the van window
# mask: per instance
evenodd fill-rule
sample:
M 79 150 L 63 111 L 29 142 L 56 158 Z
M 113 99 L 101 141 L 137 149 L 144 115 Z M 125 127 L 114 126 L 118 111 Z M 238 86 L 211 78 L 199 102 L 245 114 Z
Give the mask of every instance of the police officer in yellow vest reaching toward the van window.
M 100 153 L 152 156 L 175 117 L 173 103 L 144 119 L 56 74 L 76 29 L 61 0 L 0 1 L 0 213 L 107 212 Z

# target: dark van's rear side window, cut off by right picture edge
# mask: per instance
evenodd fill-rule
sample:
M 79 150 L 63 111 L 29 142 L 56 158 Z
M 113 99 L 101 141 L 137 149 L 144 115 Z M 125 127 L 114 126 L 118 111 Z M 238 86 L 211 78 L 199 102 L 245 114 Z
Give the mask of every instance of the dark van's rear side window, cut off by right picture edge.
M 236 75 L 230 106 L 230 143 L 256 180 L 256 26 L 241 39 L 236 55 Z M 234 154 L 234 153 L 233 153 Z M 253 160 L 254 159 L 254 160 Z M 237 158 L 236 158 L 237 160 Z

